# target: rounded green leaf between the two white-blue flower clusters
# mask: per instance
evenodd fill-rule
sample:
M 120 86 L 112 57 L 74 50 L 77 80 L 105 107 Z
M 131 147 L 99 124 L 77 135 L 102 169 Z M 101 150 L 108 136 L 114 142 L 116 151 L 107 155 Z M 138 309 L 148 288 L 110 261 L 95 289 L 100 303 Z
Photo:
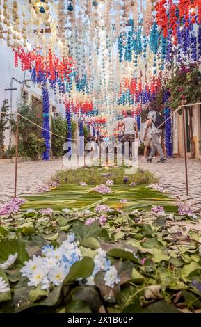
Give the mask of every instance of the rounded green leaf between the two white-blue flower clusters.
M 72 282 L 77 278 L 88 278 L 92 275 L 94 269 L 93 259 L 90 257 L 83 257 L 79 262 L 75 262 L 71 268 L 67 277 L 65 278 L 64 284 Z

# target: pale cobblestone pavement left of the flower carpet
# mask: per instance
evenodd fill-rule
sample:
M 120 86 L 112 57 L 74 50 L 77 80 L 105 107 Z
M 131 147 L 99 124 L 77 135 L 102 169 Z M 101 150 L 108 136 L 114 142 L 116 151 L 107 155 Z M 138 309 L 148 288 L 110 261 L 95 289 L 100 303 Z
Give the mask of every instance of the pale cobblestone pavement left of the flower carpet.
M 62 159 L 18 163 L 17 196 L 31 194 L 45 186 L 63 168 Z M 0 203 L 14 196 L 15 163 L 0 165 Z

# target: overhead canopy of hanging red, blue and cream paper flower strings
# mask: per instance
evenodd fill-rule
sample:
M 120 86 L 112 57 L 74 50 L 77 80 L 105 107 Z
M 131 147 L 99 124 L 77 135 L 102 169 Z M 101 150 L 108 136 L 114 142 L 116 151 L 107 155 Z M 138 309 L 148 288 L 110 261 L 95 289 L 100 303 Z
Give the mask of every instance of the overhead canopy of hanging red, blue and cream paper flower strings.
M 172 72 L 200 61 L 200 0 L 0 3 L 0 38 L 15 65 L 49 83 L 79 118 L 108 114 L 112 131 L 118 107 L 139 115 Z

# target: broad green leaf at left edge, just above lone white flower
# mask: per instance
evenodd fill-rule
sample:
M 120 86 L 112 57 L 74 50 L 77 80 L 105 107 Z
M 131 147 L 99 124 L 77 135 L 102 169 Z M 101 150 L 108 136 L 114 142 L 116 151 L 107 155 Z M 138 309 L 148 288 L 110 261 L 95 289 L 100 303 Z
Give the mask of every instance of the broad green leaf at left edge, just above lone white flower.
M 4 239 L 0 242 L 0 262 L 5 262 L 10 254 L 17 253 L 16 264 L 24 264 L 29 259 L 25 250 L 25 243 L 20 239 Z

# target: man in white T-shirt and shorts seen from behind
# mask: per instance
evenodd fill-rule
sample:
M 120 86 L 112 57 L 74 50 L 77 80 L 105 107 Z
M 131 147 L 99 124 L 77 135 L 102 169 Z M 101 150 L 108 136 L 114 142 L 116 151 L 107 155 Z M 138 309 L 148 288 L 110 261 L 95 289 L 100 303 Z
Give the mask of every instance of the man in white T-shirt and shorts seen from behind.
M 138 138 L 138 125 L 135 118 L 131 117 L 131 110 L 127 110 L 127 117 L 123 119 L 124 142 L 129 142 L 129 157 L 132 156 L 132 143 Z

